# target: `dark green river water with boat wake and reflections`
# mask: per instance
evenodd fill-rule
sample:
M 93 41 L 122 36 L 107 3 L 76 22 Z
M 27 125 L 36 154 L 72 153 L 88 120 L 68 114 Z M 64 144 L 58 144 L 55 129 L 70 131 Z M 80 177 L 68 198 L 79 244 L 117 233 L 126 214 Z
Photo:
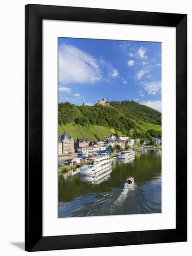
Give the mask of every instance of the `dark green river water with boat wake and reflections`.
M 128 176 L 133 189 L 124 189 Z M 102 175 L 81 177 L 79 169 L 58 175 L 58 217 L 109 216 L 161 212 L 161 149 L 113 159 Z

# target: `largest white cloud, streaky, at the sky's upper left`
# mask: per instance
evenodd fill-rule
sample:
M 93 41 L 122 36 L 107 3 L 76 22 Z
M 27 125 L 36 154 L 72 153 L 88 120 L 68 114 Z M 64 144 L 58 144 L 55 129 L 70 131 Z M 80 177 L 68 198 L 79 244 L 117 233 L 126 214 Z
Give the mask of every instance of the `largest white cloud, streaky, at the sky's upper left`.
M 94 83 L 101 79 L 99 63 L 77 47 L 62 44 L 58 50 L 58 79 L 64 84 Z

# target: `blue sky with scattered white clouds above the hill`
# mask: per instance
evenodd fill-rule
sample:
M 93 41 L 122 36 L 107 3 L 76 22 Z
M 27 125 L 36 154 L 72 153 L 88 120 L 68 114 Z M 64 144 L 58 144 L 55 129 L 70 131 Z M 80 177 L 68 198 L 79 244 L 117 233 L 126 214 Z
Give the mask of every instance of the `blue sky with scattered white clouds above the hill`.
M 133 100 L 161 111 L 161 43 L 58 39 L 58 101 Z

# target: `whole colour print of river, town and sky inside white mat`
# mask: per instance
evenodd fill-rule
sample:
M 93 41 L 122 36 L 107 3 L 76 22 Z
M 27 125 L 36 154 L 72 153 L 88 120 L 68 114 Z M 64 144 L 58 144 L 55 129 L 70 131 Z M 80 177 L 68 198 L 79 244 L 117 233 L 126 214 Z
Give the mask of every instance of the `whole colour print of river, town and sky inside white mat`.
M 55 139 L 58 218 L 161 213 L 161 43 L 58 38 Z

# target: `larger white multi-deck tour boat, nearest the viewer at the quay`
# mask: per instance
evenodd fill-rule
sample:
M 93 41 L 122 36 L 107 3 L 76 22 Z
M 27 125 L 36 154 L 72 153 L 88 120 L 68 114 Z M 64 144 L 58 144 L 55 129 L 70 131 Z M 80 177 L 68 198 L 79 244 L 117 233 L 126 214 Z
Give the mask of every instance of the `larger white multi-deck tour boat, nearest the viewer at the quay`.
M 111 165 L 111 158 L 108 154 L 101 154 L 89 158 L 90 163 L 84 164 L 80 169 L 80 175 L 91 175 L 102 171 L 102 169 L 107 168 Z

